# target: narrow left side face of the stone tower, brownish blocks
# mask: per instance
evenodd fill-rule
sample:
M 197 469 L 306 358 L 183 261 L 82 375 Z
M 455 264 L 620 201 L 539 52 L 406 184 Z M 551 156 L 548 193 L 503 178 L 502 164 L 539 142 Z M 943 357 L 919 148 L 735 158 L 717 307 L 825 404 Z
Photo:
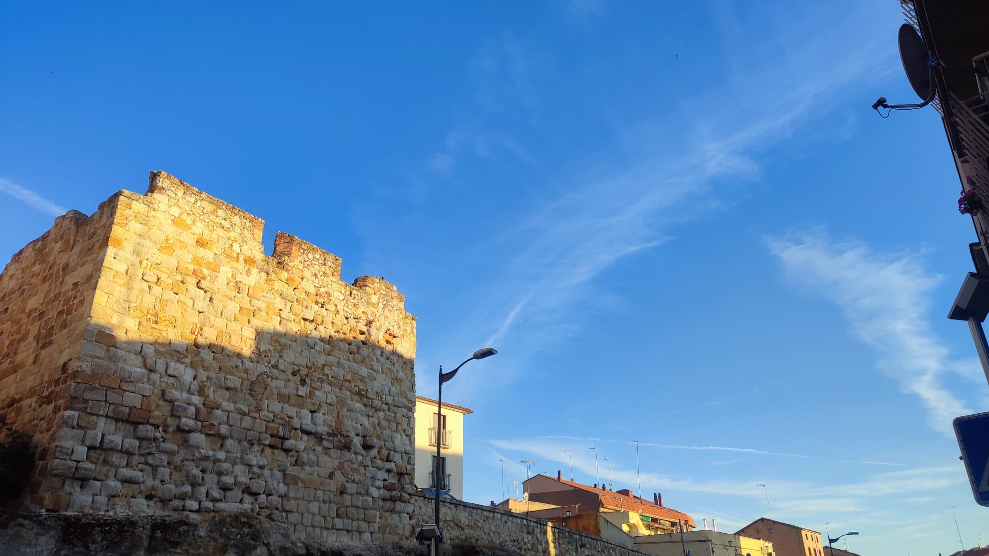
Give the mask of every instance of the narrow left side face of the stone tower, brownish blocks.
M 0 274 L 0 416 L 34 437 L 43 468 L 68 404 L 68 361 L 82 348 L 117 199 L 90 218 L 76 210 L 59 216 Z

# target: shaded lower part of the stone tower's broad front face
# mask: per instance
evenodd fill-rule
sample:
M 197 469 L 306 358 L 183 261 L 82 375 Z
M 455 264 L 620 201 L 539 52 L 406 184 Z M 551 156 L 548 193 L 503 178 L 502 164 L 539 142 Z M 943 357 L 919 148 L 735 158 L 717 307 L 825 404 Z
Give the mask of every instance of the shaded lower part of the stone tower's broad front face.
M 411 538 L 412 360 L 352 337 L 258 332 L 243 354 L 90 327 L 67 362 L 33 500 L 69 513 L 248 513 L 299 538 Z

